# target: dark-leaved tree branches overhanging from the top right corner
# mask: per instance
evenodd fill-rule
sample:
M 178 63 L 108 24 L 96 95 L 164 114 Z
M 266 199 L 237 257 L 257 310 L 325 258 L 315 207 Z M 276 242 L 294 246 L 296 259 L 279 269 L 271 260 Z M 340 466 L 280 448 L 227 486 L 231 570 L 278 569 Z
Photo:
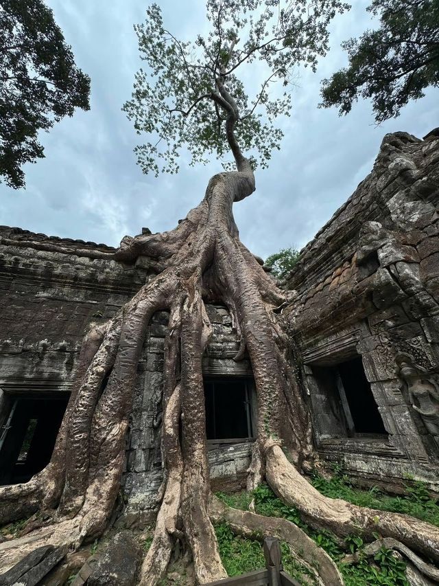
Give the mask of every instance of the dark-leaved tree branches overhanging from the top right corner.
M 372 98 L 379 124 L 439 85 L 439 3 L 374 0 L 368 11 L 380 27 L 342 43 L 349 65 L 323 80 L 321 105 L 339 106 L 342 115 L 359 97 Z

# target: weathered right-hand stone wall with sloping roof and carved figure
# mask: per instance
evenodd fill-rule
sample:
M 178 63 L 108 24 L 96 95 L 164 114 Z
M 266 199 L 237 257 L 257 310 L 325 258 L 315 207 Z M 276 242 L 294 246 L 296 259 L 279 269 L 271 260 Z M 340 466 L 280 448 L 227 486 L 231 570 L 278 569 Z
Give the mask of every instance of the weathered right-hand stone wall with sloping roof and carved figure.
M 370 175 L 301 251 L 287 282 L 298 291 L 285 316 L 320 454 L 371 480 L 438 478 L 438 134 L 386 135 Z M 334 429 L 316 373 L 357 354 L 388 438 L 348 438 Z M 431 415 L 412 406 L 413 393 L 428 399 Z

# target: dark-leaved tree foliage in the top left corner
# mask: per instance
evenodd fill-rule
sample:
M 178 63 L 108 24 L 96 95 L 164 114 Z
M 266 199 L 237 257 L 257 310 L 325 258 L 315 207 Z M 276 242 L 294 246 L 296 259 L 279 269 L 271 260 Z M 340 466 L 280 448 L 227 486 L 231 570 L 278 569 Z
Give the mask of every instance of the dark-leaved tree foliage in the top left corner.
M 0 176 L 25 186 L 22 166 L 44 157 L 38 131 L 89 109 L 90 79 L 75 65 L 41 0 L 0 2 Z

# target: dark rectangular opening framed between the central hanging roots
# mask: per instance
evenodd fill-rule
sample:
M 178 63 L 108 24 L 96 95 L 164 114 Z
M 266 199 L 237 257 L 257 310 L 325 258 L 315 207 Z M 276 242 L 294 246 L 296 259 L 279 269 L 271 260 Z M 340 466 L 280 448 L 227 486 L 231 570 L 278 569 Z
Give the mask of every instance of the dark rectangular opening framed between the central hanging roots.
M 252 388 L 252 379 L 224 377 L 204 380 L 208 440 L 252 437 Z

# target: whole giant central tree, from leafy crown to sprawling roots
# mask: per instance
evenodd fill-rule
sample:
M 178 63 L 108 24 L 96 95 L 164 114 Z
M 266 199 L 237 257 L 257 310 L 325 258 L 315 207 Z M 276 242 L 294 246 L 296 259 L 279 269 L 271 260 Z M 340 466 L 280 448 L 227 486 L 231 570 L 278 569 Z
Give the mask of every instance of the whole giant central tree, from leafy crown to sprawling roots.
M 241 339 L 235 360 L 247 352 L 257 387 L 257 439 L 248 487 L 265 477 L 311 526 L 340 536 L 361 530 L 364 539 L 379 532 L 438 559 L 437 528 L 405 515 L 329 499 L 301 475 L 313 462 L 311 420 L 280 313 L 294 293 L 277 288 L 239 241 L 233 219 L 233 203 L 255 188 L 252 165 L 239 141 L 253 149 L 255 159 L 277 146 L 264 136 L 265 124 L 285 111 L 287 98 L 271 99 L 268 87 L 275 79 L 287 82 L 297 63 L 316 65 L 317 56 L 327 49 L 328 24 L 343 8 L 337 0 L 287 2 L 285 8 L 278 0 L 208 0 L 211 33 L 198 36 L 195 43 L 177 41 L 166 30 L 157 5 L 147 10 L 137 34 L 155 84 L 140 71 L 126 104 L 135 128 L 146 131 L 149 139 L 137 150 L 143 169 L 158 172 L 157 161 L 164 161 L 160 164 L 174 172 L 178 152 L 185 147 L 195 161 L 211 151 L 222 158 L 228 148 L 236 170 L 215 174 L 204 199 L 174 230 L 123 238 L 114 254 L 95 252 L 126 263 L 140 254 L 148 256 L 155 261 L 156 278 L 108 322 L 91 324 L 51 462 L 27 484 L 0 488 L 0 521 L 39 510 L 27 530 L 49 523 L 51 543 L 78 545 L 102 534 L 119 490 L 147 325 L 156 311 L 166 310 L 161 446 L 165 481 L 141 583 L 160 580 L 177 540 L 189 545 L 199 583 L 225 576 L 211 518 L 227 516 L 234 530 L 245 534 L 261 531 L 263 521 L 250 511 L 243 515 L 219 507 L 210 491 L 202 354 L 211 324 L 205 304 L 222 301 Z M 237 71 L 251 63 L 258 64 L 258 71 L 265 64 L 268 76 L 249 102 Z M 256 113 L 259 106 L 267 112 L 268 123 Z M 270 530 L 282 530 L 290 541 L 288 535 L 294 532 L 297 552 L 302 551 L 298 543 L 308 539 L 278 519 L 270 519 Z M 22 544 L 21 554 L 40 543 L 41 533 L 36 533 L 33 541 Z M 316 559 L 310 563 L 316 566 Z M 331 584 L 341 584 L 335 567 L 332 572 Z

